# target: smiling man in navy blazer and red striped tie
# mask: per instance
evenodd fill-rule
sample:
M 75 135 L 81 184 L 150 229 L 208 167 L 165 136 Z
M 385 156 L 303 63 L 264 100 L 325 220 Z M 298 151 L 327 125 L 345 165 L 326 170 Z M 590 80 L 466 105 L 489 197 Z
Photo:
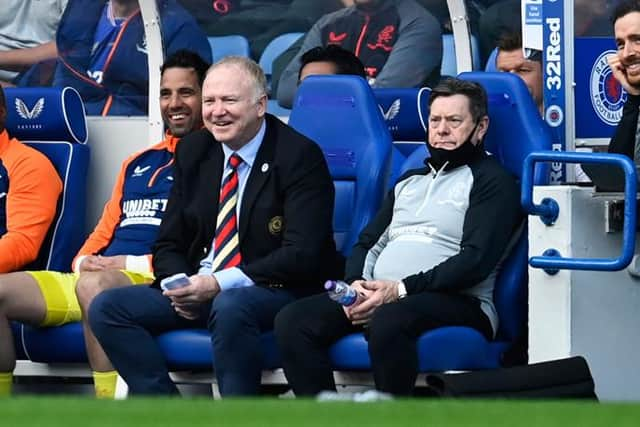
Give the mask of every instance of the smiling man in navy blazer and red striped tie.
M 184 137 L 176 153 L 155 283 L 103 292 L 90 308 L 91 327 L 133 394 L 176 393 L 153 337 L 203 326 L 221 394 L 257 393 L 260 334 L 280 308 L 340 270 L 326 161 L 315 143 L 266 114 L 260 67 L 223 59 L 209 69 L 202 99 L 206 129 Z M 160 292 L 177 273 L 186 286 Z

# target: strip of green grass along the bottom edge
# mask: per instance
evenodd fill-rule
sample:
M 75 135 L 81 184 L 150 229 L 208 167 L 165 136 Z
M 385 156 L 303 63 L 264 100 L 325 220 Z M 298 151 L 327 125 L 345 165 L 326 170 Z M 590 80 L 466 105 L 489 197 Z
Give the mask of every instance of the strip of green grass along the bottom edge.
M 0 426 L 638 426 L 640 405 L 575 401 L 315 402 L 207 398 L 0 400 Z

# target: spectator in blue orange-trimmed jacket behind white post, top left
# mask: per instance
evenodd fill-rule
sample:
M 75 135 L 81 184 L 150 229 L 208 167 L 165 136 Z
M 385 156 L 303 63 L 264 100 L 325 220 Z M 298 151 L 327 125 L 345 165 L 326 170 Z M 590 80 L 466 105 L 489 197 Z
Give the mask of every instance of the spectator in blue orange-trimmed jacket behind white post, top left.
M 165 57 L 188 48 L 210 62 L 195 19 L 176 0 L 157 5 Z M 147 40 L 137 0 L 69 0 L 56 42 L 53 84 L 77 89 L 87 114 L 147 114 Z

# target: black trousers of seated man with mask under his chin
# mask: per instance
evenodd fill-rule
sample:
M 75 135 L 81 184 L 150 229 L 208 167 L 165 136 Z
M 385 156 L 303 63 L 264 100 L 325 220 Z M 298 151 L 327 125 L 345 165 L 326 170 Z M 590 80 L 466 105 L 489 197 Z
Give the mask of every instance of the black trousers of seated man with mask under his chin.
M 328 349 L 339 338 L 366 330 L 378 390 L 410 395 L 418 375 L 418 337 L 441 326 L 469 326 L 493 335 L 489 319 L 472 297 L 424 292 L 376 309 L 367 328 L 349 322 L 342 307 L 325 294 L 283 308 L 275 334 L 287 380 L 297 396 L 335 390 Z

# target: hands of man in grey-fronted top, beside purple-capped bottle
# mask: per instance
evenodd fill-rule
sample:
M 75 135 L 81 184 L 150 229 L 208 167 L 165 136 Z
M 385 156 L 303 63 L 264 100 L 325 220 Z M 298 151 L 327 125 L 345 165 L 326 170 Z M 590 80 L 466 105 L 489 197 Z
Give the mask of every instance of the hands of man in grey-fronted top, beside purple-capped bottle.
M 354 325 L 368 323 L 378 307 L 398 299 L 398 282 L 393 280 L 356 280 L 351 286 L 360 297 L 354 305 L 343 309 Z

